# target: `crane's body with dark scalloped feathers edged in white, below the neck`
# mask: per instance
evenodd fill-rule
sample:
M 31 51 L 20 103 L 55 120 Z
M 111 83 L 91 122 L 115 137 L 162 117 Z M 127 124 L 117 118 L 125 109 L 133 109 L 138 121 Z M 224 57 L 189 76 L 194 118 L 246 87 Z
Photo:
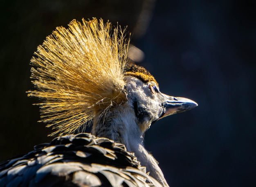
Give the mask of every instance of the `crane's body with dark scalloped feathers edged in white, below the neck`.
M 160 186 L 123 144 L 80 133 L 0 165 L 0 186 Z

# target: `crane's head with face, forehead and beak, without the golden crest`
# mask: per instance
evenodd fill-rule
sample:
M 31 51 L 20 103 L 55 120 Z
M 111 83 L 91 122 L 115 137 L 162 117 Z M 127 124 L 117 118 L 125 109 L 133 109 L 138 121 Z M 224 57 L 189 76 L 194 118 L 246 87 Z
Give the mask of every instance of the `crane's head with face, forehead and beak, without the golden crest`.
M 141 66 L 127 65 L 125 76 L 128 102 L 134 110 L 142 133 L 152 123 L 163 117 L 198 106 L 190 99 L 173 97 L 160 92 L 155 78 Z

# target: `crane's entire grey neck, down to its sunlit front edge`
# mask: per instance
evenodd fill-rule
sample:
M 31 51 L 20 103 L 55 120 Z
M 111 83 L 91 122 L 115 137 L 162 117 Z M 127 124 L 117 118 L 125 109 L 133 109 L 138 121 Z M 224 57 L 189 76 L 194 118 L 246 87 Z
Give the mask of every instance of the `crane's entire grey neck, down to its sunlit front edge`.
M 127 151 L 134 152 L 141 165 L 146 166 L 150 176 L 158 180 L 162 186 L 168 187 L 157 161 L 143 145 L 144 136 L 137 125 L 132 108 L 122 106 L 106 115 L 97 116 L 94 119 L 92 134 L 123 143 Z

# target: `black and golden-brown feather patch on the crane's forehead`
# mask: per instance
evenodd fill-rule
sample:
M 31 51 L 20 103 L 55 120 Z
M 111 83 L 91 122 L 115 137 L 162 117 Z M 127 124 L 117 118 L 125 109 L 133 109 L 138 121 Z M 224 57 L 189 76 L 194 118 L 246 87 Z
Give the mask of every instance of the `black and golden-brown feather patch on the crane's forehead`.
M 137 66 L 135 64 L 126 64 L 126 66 L 124 68 L 124 76 L 126 76 L 126 77 L 127 76 L 136 77 L 144 83 L 154 81 L 158 86 L 158 83 L 155 80 L 155 78 L 153 77 L 153 75 L 151 75 L 148 72 L 148 70 L 146 70 L 142 66 Z

